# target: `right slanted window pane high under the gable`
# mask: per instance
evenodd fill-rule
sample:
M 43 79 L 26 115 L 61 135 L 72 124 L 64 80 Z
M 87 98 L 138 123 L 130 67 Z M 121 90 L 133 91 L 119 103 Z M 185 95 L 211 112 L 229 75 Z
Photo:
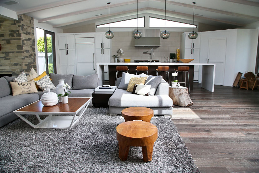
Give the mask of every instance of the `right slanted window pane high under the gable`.
M 149 17 L 149 27 L 197 27 L 196 25 Z

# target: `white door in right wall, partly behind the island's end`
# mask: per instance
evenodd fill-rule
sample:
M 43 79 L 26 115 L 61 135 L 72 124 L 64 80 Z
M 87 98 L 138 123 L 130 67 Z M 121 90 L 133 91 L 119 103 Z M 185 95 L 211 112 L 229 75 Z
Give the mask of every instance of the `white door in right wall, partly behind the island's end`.
M 215 85 L 224 84 L 227 38 L 210 38 L 208 42 L 208 63 L 216 64 Z

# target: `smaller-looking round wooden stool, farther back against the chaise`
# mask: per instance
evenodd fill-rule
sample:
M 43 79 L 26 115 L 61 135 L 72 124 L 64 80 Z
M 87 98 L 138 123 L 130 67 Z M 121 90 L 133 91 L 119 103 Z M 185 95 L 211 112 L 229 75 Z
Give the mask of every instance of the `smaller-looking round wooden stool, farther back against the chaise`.
M 150 122 L 154 116 L 154 111 L 147 107 L 128 107 L 121 111 L 121 116 L 126 121 L 142 120 Z

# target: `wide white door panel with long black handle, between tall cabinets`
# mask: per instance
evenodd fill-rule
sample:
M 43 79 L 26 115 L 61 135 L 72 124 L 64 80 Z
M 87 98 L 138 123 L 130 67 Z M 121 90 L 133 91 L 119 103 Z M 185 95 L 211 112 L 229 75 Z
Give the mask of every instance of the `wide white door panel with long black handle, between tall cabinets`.
M 95 73 L 94 67 L 95 43 L 76 43 L 77 75 Z

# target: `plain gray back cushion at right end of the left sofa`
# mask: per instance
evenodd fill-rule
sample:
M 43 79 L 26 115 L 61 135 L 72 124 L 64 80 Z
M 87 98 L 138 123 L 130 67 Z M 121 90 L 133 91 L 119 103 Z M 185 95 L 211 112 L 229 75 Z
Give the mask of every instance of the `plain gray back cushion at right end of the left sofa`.
M 73 90 L 92 89 L 97 87 L 98 74 L 92 74 L 89 76 L 73 76 Z

